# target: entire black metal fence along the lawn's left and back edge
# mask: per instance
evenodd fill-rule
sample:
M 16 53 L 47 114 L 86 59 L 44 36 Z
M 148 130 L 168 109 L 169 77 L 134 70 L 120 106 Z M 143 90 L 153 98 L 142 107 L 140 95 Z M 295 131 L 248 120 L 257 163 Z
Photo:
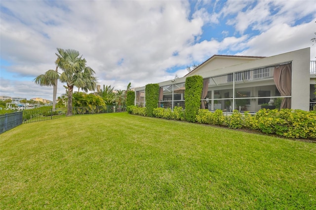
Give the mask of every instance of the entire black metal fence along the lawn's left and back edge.
M 125 106 L 84 106 L 73 107 L 73 115 L 81 114 L 100 114 L 126 111 Z M 22 123 L 31 123 L 44 120 L 58 119 L 66 117 L 67 107 L 63 108 L 40 108 L 26 109 L 23 111 L 7 113 L 0 115 L 0 134 L 14 128 Z

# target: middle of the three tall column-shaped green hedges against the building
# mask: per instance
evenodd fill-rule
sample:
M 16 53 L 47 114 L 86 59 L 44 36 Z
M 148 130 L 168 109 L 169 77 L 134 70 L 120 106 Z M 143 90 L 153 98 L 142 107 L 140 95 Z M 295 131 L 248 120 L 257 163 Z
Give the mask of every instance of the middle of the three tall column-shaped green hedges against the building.
M 146 116 L 153 117 L 154 108 L 158 107 L 159 101 L 159 85 L 158 84 L 147 84 L 145 87 L 145 98 L 146 98 Z

